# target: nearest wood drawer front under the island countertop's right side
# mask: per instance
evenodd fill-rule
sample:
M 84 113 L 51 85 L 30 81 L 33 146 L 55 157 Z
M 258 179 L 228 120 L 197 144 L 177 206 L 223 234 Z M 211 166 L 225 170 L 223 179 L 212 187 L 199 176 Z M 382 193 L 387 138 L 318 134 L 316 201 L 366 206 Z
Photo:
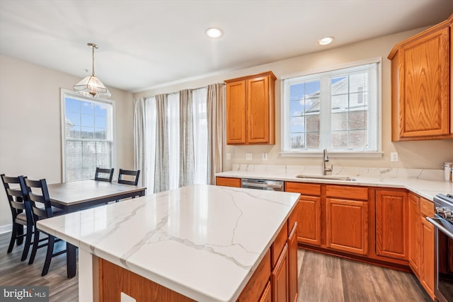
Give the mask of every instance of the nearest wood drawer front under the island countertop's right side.
M 268 284 L 270 277 L 270 250 L 266 252 L 263 260 L 256 268 L 246 287 L 243 288 L 241 295 L 236 300 L 238 302 L 258 301 L 263 289 Z

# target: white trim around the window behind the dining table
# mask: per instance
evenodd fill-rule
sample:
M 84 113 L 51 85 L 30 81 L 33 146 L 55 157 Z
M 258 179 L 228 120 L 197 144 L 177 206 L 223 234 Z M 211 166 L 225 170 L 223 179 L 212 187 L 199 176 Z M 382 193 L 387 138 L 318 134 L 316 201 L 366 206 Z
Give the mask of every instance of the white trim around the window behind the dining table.
M 62 137 L 62 182 L 66 182 L 67 179 L 66 179 L 66 136 L 64 135 L 65 133 L 65 124 L 64 124 L 64 120 L 66 118 L 66 105 L 65 105 L 65 102 L 64 102 L 64 96 L 65 95 L 72 95 L 76 98 L 81 98 L 81 99 L 84 99 L 84 100 L 94 100 L 96 102 L 101 102 L 101 103 L 108 103 L 110 105 L 112 105 L 112 118 L 113 118 L 113 121 L 112 121 L 112 165 L 113 167 L 116 166 L 116 136 L 115 136 L 115 133 L 116 133 L 116 122 L 115 122 L 115 101 L 113 100 L 108 100 L 108 99 L 105 99 L 105 98 L 96 98 L 96 99 L 91 99 L 91 98 L 87 98 L 86 96 L 84 95 L 81 95 L 79 93 L 76 93 L 74 91 L 70 91 L 70 90 L 67 90 L 67 89 L 64 89 L 64 88 L 60 88 L 60 105 L 61 105 L 61 115 L 60 115 L 60 125 L 61 125 L 61 137 Z

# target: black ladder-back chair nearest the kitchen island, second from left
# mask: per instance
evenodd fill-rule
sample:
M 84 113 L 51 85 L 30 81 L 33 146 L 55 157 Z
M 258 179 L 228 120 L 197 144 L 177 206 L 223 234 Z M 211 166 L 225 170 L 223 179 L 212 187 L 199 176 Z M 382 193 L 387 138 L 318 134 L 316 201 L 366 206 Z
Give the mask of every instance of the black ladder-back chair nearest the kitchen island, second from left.
M 62 255 L 67 250 L 61 250 L 54 253 L 54 244 L 55 242 L 60 241 L 60 239 L 38 230 L 38 228 L 36 228 L 36 221 L 47 219 L 58 214 L 64 214 L 64 211 L 52 207 L 52 204 L 50 204 L 50 196 L 49 191 L 47 190 L 47 182 L 45 181 L 45 179 L 29 180 L 25 178 L 25 186 L 28 192 L 28 200 L 30 201 L 31 209 L 33 211 L 33 220 L 35 221 L 35 236 L 33 238 L 33 248 L 28 264 L 31 265 L 35 261 L 36 251 L 38 250 L 38 248 L 47 246 L 47 253 L 41 274 L 41 276 L 45 276 L 47 272 L 49 272 L 50 260 L 52 260 L 52 257 Z M 40 239 L 40 233 L 47 235 L 47 238 Z M 43 240 L 47 240 L 47 243 L 39 245 L 39 243 Z

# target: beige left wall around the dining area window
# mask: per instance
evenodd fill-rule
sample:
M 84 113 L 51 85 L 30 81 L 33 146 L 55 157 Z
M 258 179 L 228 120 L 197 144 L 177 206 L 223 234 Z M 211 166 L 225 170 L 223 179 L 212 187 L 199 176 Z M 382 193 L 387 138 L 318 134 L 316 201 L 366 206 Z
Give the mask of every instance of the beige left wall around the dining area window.
M 80 79 L 0 55 L 0 174 L 62 181 L 60 88 Z M 111 89 L 115 101 L 116 167 L 134 168 L 132 93 Z M 0 232 L 11 223 L 3 185 Z

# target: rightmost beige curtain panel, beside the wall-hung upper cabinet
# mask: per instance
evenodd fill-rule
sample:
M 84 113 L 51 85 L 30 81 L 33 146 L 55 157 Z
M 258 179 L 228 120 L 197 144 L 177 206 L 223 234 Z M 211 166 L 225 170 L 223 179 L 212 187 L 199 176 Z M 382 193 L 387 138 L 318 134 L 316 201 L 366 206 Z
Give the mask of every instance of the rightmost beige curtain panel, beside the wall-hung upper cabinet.
M 214 185 L 215 173 L 223 170 L 225 89 L 222 83 L 207 86 L 207 183 Z

